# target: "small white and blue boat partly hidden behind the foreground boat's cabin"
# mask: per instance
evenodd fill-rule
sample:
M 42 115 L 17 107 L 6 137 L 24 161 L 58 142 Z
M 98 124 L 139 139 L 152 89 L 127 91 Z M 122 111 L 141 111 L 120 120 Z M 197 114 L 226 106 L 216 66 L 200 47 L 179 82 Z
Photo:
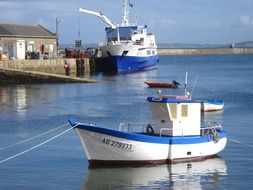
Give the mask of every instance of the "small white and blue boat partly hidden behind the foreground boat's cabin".
M 224 100 L 201 100 L 201 110 L 204 112 L 220 111 L 224 108 Z

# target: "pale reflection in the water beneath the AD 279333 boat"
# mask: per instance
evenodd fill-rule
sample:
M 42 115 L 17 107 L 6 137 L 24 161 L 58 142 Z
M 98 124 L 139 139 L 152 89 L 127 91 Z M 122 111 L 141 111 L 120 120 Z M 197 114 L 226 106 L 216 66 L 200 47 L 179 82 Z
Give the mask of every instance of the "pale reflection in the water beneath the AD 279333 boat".
M 82 189 L 204 189 L 202 184 L 218 185 L 226 175 L 226 163 L 219 157 L 171 165 L 91 168 Z

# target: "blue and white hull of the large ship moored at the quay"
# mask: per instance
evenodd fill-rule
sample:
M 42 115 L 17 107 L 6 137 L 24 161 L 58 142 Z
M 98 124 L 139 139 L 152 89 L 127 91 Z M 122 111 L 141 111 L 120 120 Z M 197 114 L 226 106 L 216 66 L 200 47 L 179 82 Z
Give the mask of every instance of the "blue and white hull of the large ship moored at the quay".
M 97 61 L 100 71 L 135 72 L 152 69 L 159 62 L 156 47 L 132 42 L 106 43 L 100 46 L 102 57 Z

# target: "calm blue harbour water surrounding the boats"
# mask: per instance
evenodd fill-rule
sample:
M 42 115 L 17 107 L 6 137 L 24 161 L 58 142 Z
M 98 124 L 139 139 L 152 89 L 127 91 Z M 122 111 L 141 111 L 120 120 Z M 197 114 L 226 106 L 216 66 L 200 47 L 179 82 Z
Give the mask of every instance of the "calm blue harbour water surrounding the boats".
M 144 81 L 184 83 L 186 71 L 193 98 L 225 100 L 223 111 L 202 115 L 204 121 L 221 122 L 229 133 L 219 157 L 174 165 L 88 169 L 72 130 L 0 164 L 0 189 L 252 189 L 253 55 L 161 56 L 155 70 L 87 76 L 104 81 L 97 84 L 0 86 L 0 160 L 66 130 L 68 126 L 8 147 L 59 127 L 69 118 L 111 128 L 120 122 L 151 122 L 146 97 L 156 90 Z M 182 94 L 183 88 L 163 93 Z

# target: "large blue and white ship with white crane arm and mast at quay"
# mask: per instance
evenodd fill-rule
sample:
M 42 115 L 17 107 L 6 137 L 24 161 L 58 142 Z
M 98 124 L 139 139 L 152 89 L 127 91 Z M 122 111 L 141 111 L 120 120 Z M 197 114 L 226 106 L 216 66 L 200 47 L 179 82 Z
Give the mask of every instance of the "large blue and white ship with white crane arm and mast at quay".
M 122 23 L 115 25 L 102 12 L 80 8 L 80 12 L 99 17 L 108 26 L 106 40 L 99 44 L 102 57 L 97 67 L 102 71 L 132 72 L 154 68 L 159 61 L 155 36 L 148 33 L 147 26 L 130 24 L 129 12 L 132 4 L 123 0 Z

